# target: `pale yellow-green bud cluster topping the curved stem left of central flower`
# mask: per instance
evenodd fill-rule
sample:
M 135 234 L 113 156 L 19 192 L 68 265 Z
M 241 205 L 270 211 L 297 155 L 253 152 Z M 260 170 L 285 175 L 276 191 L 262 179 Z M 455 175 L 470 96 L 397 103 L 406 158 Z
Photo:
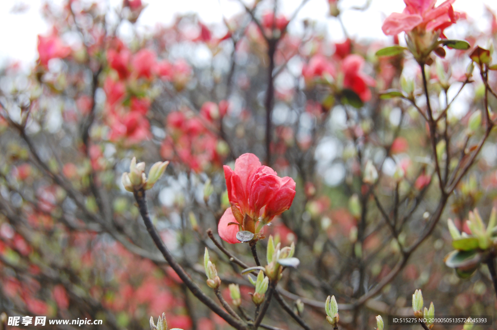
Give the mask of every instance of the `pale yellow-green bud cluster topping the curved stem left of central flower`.
M 150 168 L 149 176 L 145 175 L 145 163 L 136 163 L 136 157 L 133 157 L 129 166 L 129 173 L 124 172 L 122 183 L 128 192 L 134 192 L 140 189 L 149 190 L 154 187 L 155 183 L 161 178 L 169 162 L 157 162 Z

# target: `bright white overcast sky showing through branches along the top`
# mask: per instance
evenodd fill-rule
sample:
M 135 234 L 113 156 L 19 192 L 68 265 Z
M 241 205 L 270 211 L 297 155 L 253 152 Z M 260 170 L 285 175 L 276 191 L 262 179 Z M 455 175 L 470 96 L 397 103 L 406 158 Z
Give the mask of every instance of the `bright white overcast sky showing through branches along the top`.
M 62 0 L 52 0 L 60 3 Z M 242 11 L 237 0 L 142 0 L 148 3 L 142 13 L 141 25 L 150 27 L 157 23 L 170 23 L 177 13 L 195 11 L 206 23 L 221 22 L 223 16 L 230 17 Z M 245 0 L 249 1 L 249 0 Z M 252 1 L 252 0 L 250 0 Z M 19 3 L 26 4 L 29 9 L 23 13 L 12 13 L 11 8 Z M 16 60 L 29 65 L 37 58 L 36 36 L 44 34 L 48 26 L 40 16 L 41 4 L 46 0 L 0 0 L 0 64 L 8 60 Z M 117 6 L 120 0 L 110 0 Z M 281 10 L 291 15 L 301 0 L 282 0 Z M 342 9 L 352 6 L 362 6 L 366 0 L 340 0 Z M 438 1 L 440 3 L 442 1 Z M 488 20 L 483 20 L 485 5 L 497 11 L 497 0 L 456 0 L 454 9 L 465 11 L 468 17 L 478 22 L 481 29 L 488 30 Z M 405 4 L 402 0 L 372 0 L 367 11 L 359 12 L 347 10 L 343 14 L 343 21 L 348 33 L 359 38 L 384 39 L 381 24 L 387 15 L 397 11 L 401 12 Z M 341 28 L 334 18 L 327 16 L 327 0 L 309 0 L 302 8 L 299 19 L 313 18 L 322 22 L 323 28 L 329 31 L 332 39 L 343 38 Z M 450 32 L 448 32 L 450 37 Z M 456 36 L 453 36 L 456 37 Z

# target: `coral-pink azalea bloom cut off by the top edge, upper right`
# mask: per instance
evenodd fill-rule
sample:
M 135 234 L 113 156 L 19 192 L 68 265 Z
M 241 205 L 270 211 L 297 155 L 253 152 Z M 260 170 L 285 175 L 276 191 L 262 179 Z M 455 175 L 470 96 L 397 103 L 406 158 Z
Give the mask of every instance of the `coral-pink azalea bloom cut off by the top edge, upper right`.
M 435 8 L 436 0 L 404 0 L 404 11 L 390 14 L 382 30 L 386 35 L 393 36 L 419 27 L 425 31 L 440 30 L 443 36 L 443 30 L 461 17 L 461 13 L 452 8 L 454 1 L 447 0 Z

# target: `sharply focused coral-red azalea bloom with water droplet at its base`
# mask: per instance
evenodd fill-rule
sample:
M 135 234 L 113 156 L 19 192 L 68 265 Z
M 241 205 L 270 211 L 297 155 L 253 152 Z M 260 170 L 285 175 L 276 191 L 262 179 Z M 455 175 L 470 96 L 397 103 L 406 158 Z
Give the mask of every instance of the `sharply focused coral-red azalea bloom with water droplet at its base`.
M 225 165 L 224 175 L 231 208 L 221 217 L 218 233 L 228 243 L 238 243 L 236 233 L 241 229 L 258 236 L 274 216 L 290 208 L 295 197 L 295 181 L 278 177 L 251 153 L 236 160 L 235 171 Z

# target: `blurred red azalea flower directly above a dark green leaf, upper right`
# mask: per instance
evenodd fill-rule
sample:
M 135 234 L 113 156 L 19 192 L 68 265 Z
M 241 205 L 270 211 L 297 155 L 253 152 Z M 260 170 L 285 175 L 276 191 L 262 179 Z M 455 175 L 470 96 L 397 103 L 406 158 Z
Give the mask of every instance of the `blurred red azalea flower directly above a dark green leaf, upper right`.
M 349 55 L 342 62 L 342 70 L 345 74 L 343 87 L 352 89 L 363 102 L 371 99 L 371 91 L 368 86 L 374 86 L 375 80 L 367 74 L 360 72 L 364 59 L 359 55 Z

